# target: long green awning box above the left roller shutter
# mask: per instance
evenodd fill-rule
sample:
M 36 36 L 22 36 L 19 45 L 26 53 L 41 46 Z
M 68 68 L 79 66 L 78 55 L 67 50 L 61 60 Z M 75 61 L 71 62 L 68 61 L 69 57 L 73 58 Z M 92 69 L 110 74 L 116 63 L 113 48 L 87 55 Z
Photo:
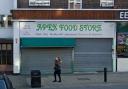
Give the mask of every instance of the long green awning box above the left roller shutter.
M 75 38 L 21 38 L 21 47 L 74 47 Z

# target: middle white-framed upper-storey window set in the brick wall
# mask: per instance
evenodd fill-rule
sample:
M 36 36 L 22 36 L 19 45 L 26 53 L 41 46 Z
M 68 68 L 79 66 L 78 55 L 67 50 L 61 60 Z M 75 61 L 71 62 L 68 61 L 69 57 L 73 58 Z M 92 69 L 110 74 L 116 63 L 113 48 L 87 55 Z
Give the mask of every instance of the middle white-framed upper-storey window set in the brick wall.
M 69 9 L 82 9 L 82 0 L 69 0 Z

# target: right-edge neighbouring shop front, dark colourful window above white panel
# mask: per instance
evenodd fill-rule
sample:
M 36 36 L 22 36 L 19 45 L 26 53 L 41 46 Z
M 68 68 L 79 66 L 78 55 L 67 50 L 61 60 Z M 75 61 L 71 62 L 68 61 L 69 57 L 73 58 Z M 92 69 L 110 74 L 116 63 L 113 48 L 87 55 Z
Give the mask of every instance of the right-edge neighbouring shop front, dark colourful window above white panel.
M 117 25 L 117 71 L 128 71 L 128 22 Z

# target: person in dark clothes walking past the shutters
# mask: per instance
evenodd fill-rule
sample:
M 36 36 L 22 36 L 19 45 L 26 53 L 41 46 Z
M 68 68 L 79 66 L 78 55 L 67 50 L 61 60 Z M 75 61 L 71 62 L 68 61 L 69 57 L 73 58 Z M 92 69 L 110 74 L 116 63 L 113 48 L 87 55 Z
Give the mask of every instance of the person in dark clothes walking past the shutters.
M 60 57 L 55 58 L 55 63 L 54 63 L 54 81 L 57 82 L 57 75 L 59 78 L 58 82 L 61 82 L 61 59 Z

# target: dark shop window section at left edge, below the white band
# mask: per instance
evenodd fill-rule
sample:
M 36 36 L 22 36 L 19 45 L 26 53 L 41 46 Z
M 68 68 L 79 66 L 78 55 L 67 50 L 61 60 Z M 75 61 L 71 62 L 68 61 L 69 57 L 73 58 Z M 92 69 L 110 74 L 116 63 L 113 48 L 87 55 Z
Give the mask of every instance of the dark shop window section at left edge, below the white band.
M 12 39 L 0 39 L 0 73 L 13 72 Z

